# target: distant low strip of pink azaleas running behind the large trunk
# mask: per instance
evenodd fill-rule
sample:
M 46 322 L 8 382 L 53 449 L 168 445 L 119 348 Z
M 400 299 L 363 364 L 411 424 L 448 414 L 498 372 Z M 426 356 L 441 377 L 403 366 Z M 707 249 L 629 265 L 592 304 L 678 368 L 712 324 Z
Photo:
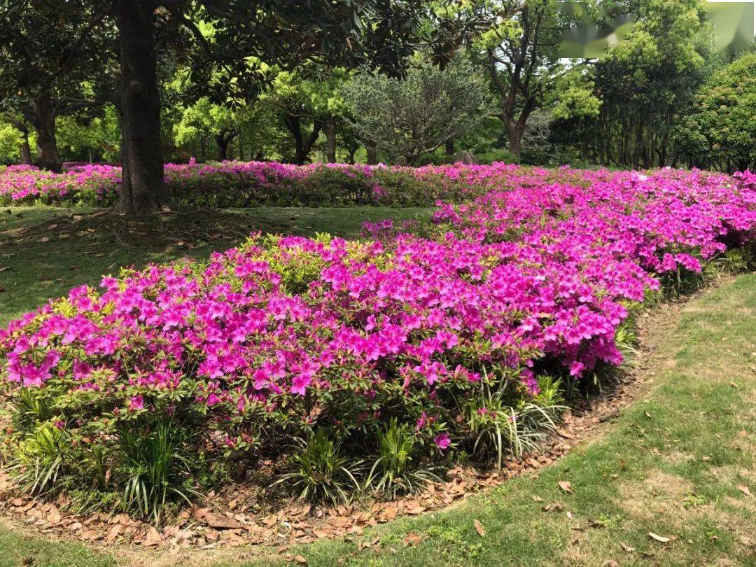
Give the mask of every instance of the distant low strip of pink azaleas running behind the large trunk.
M 547 170 L 541 170 L 547 172 Z M 348 166 L 277 162 L 168 163 L 165 180 L 177 203 L 194 206 L 432 206 L 463 200 L 487 187 L 516 183 L 517 166 Z M 55 174 L 33 166 L 0 171 L 0 205 L 116 203 L 119 167 L 67 164 Z

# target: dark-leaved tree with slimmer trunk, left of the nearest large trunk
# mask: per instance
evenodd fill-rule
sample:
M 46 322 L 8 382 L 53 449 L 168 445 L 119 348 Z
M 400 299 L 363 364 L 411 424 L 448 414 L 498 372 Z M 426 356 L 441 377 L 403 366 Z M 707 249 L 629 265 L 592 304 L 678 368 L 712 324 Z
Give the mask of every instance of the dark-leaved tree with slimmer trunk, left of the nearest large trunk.
M 14 0 L 0 8 L 0 106 L 36 131 L 39 166 L 60 170 L 56 119 L 98 104 L 112 73 L 99 2 Z

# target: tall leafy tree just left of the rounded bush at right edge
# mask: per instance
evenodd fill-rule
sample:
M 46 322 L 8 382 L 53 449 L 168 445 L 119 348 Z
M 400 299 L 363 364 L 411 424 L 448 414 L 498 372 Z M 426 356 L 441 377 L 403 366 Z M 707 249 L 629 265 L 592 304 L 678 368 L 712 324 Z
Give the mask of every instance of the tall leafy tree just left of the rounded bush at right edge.
M 640 0 L 637 22 L 590 73 L 596 116 L 562 117 L 560 141 L 595 163 L 652 167 L 675 163 L 670 135 L 717 57 L 700 0 Z

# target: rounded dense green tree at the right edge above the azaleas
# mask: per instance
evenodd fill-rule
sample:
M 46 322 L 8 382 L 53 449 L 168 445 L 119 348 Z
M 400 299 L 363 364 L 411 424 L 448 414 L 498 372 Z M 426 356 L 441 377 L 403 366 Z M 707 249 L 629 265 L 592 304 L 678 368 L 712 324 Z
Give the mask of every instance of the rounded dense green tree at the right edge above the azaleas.
M 677 153 L 691 166 L 756 170 L 756 52 L 714 73 L 674 130 Z

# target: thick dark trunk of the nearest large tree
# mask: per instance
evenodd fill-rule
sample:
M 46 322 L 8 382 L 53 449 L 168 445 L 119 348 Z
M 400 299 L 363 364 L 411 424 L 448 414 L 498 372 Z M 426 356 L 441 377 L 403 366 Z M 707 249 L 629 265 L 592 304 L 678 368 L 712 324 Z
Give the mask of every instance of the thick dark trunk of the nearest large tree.
M 160 91 L 155 72 L 153 11 L 139 0 L 119 0 L 122 181 L 118 211 L 136 215 L 169 203 L 160 148 Z

